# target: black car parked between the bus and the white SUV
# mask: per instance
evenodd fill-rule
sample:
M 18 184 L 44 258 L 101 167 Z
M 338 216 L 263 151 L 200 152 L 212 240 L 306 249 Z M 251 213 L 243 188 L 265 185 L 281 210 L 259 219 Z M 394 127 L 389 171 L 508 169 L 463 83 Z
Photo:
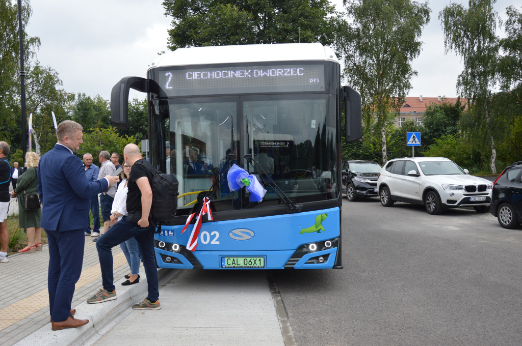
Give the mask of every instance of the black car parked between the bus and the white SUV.
M 378 195 L 377 176 L 381 166 L 373 161 L 353 160 L 342 163 L 342 192 L 348 201 L 358 197 L 375 197 Z

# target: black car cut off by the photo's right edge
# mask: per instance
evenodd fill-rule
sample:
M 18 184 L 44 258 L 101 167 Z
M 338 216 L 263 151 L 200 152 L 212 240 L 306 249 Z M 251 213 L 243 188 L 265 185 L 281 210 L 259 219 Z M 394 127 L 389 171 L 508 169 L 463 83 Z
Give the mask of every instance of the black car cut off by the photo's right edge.
M 490 212 L 504 228 L 522 223 L 522 161 L 502 171 L 493 184 Z

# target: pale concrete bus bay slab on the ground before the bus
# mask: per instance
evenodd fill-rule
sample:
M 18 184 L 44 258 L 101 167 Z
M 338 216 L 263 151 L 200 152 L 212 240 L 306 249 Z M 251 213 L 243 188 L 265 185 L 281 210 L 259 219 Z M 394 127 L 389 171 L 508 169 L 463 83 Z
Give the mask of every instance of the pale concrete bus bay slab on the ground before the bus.
M 183 270 L 160 289 L 160 302 L 158 311 L 131 309 L 95 345 L 295 344 L 264 270 Z

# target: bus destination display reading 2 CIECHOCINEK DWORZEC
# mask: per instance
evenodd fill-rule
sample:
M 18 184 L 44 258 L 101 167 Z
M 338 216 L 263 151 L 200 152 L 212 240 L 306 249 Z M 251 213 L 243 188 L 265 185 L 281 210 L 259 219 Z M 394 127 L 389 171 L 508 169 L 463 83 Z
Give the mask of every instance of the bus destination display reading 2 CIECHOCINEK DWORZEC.
M 159 74 L 167 96 L 325 89 L 320 64 L 169 69 Z

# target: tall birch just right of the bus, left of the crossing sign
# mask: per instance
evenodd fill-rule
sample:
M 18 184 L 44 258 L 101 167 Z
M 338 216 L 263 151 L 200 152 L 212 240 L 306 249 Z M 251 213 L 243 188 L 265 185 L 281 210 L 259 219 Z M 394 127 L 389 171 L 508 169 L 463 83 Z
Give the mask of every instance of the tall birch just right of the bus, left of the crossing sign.
M 430 20 L 428 2 L 411 0 L 343 0 L 348 20 L 338 30 L 337 51 L 345 60 L 344 76 L 363 99 L 364 118 L 376 115 L 373 137 L 381 139 L 386 163 L 389 110 L 398 110 L 417 75 L 411 61 L 421 51 L 419 38 Z M 368 124 L 366 124 L 367 127 Z

